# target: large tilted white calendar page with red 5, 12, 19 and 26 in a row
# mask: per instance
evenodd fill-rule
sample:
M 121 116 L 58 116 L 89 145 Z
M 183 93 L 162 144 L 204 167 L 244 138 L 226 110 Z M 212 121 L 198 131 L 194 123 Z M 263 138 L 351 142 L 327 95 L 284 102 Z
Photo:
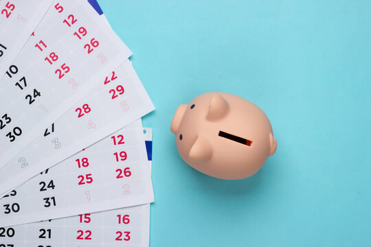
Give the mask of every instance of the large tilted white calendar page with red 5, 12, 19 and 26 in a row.
M 54 1 L 0 81 L 0 167 L 128 56 L 87 1 Z

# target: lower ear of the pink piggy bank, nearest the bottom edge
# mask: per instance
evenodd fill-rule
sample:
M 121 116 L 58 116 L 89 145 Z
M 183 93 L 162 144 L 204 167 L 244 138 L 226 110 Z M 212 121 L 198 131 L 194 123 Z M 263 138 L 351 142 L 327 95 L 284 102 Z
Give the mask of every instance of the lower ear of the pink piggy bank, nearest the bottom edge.
M 190 154 L 188 158 L 190 161 L 202 162 L 207 161 L 212 156 L 212 145 L 210 141 L 199 134 L 196 141 L 193 143 L 192 148 L 190 149 Z

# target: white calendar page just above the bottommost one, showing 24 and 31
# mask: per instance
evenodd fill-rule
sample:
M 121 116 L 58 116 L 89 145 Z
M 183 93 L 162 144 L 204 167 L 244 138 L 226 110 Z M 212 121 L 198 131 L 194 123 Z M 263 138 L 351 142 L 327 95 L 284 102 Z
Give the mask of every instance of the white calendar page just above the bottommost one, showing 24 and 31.
M 153 202 L 142 122 L 35 176 L 0 200 L 12 226 Z

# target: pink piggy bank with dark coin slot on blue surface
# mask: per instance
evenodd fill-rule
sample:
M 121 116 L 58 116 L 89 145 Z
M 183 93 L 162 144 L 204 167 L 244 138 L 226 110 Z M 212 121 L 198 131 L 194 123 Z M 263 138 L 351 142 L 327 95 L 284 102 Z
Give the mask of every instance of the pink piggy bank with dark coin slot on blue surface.
M 204 93 L 180 105 L 170 130 L 181 158 L 216 178 L 252 176 L 277 148 L 267 115 L 229 93 Z

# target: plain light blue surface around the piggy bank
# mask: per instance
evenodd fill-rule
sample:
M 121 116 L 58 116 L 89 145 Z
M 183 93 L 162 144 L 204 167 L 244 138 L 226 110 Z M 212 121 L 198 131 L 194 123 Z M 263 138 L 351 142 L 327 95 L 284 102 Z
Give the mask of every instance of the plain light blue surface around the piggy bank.
M 151 246 L 371 246 L 371 1 L 99 1 L 157 110 Z M 255 176 L 188 167 L 170 122 L 225 91 L 271 119 Z

